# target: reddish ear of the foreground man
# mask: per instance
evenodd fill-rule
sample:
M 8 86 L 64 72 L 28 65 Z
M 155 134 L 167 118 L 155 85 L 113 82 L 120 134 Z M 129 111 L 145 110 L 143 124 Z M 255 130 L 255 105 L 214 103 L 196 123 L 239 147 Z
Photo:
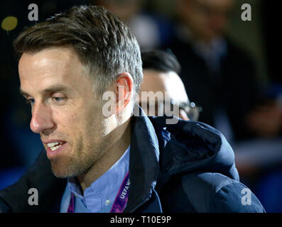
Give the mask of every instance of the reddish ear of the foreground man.
M 118 79 L 116 79 L 116 113 L 119 114 L 122 110 L 126 108 L 132 99 L 134 92 L 134 81 L 131 74 L 128 72 L 123 72 L 119 74 Z

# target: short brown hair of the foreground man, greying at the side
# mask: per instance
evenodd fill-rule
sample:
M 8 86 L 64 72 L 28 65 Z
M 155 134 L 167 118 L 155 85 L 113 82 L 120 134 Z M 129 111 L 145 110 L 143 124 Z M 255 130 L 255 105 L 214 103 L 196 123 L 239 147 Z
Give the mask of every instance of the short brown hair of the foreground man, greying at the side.
M 18 57 L 55 46 L 70 46 L 94 75 L 95 94 L 101 95 L 121 72 L 134 79 L 139 93 L 143 79 L 140 48 L 121 19 L 103 6 L 73 6 L 42 23 L 26 28 L 13 47 Z

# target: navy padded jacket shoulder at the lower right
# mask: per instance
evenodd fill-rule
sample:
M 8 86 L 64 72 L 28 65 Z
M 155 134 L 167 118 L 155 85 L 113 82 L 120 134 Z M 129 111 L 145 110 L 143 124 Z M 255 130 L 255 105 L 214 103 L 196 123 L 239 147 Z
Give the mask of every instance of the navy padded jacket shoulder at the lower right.
M 262 213 L 259 199 L 241 182 L 217 172 L 182 177 L 183 190 L 197 212 Z

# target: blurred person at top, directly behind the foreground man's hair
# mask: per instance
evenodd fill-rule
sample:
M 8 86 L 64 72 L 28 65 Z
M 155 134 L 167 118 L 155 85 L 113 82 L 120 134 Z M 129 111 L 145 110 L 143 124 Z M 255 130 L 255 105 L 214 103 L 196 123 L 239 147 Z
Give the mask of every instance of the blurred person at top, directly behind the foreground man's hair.
M 172 25 L 168 19 L 146 10 L 145 0 L 92 0 L 119 16 L 134 33 L 141 50 L 158 48 L 168 43 Z

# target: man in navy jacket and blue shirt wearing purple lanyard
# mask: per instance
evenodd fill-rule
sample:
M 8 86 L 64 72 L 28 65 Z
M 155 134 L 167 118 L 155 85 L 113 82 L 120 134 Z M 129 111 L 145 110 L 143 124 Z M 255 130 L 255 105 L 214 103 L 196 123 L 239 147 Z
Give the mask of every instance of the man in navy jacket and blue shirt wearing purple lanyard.
M 15 48 L 45 150 L 0 192 L 1 212 L 264 212 L 251 192 L 242 204 L 246 187 L 219 131 L 134 111 L 139 45 L 106 9 L 72 7 L 23 31 Z

